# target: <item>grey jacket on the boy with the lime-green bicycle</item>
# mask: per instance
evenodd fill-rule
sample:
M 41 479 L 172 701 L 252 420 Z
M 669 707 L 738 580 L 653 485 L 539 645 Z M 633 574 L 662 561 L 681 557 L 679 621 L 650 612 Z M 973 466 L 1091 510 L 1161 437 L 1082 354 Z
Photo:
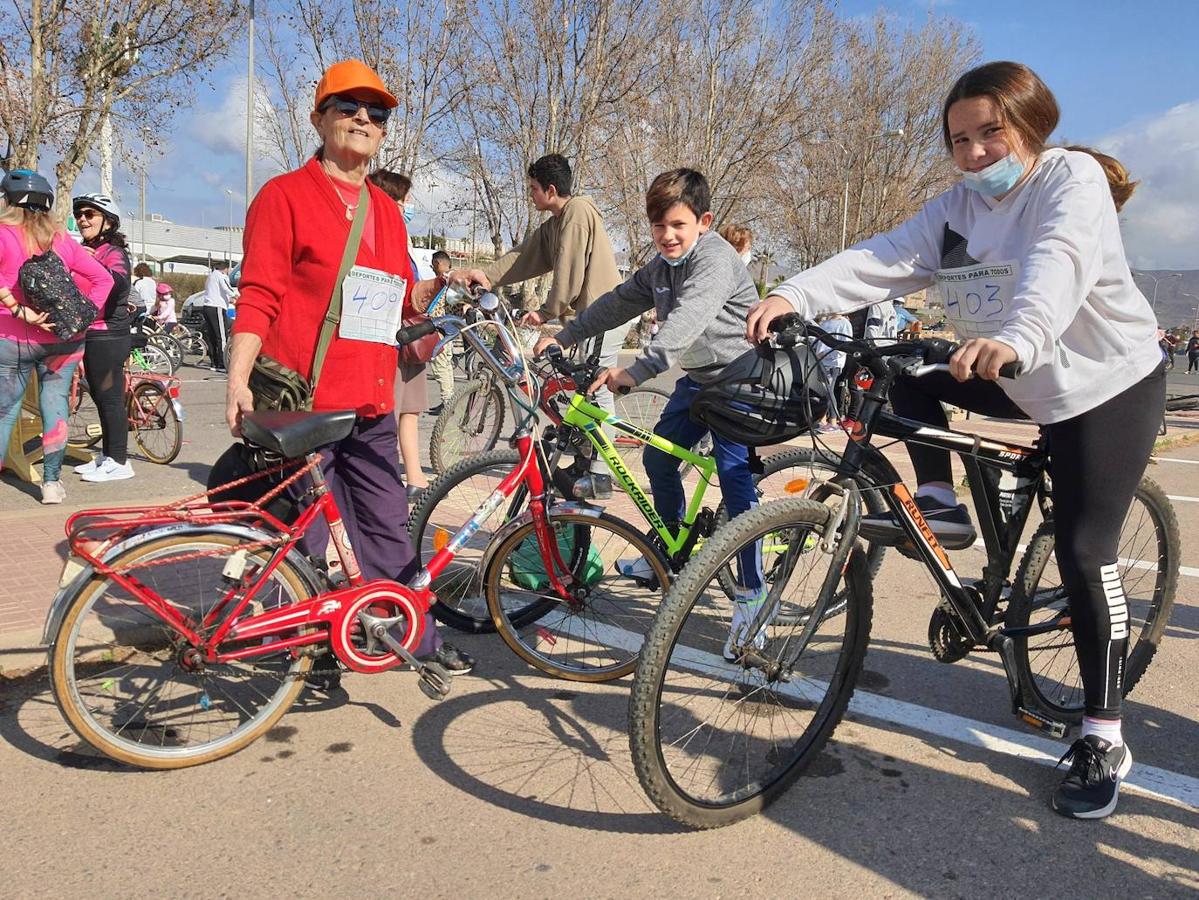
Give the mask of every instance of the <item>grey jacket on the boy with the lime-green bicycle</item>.
M 746 315 L 757 302 L 758 290 L 741 256 L 718 234 L 705 231 L 682 265 L 668 266 L 655 256 L 579 313 L 558 340 L 570 346 L 652 308 L 658 333 L 628 367 L 633 381 L 640 385 L 677 364 L 699 383 L 710 383 L 749 350 Z

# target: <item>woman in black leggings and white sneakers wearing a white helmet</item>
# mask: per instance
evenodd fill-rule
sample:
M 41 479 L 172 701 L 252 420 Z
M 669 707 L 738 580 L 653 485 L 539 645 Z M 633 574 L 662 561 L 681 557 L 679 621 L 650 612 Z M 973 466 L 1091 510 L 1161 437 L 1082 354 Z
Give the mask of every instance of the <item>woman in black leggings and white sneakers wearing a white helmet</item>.
M 88 389 L 100 411 L 103 430 L 101 452 L 90 463 L 76 466 L 85 482 L 116 482 L 133 477 L 127 459 L 128 416 L 125 411 L 125 361 L 129 356 L 129 252 L 121 225 L 121 207 L 104 194 L 80 194 L 71 201 L 83 246 L 113 276 L 113 290 L 100 316 L 88 330 L 83 367 Z

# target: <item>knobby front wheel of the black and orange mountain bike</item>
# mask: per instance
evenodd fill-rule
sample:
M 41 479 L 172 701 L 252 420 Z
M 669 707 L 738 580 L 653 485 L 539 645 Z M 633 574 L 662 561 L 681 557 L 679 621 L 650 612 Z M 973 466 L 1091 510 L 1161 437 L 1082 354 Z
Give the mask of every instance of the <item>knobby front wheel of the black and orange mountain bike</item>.
M 826 506 L 801 499 L 739 515 L 663 600 L 633 677 L 628 736 L 641 786 L 676 822 L 716 828 L 765 809 L 840 721 L 872 599 L 860 549 L 838 585 L 840 555 L 819 549 L 829 520 Z M 735 608 L 721 570 L 778 536 L 793 548 L 785 570 L 776 567 L 769 596 Z M 785 624 L 781 605 L 791 610 Z

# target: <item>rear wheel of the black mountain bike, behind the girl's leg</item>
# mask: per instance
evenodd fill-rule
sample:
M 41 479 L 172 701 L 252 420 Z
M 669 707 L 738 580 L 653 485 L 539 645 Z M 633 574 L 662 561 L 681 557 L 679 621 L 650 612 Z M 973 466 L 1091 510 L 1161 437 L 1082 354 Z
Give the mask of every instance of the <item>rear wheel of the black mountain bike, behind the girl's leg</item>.
M 1138 505 L 1143 507 L 1140 513 L 1137 512 Z M 1144 560 L 1149 538 L 1137 537 L 1139 525 L 1146 517 L 1152 524 L 1152 543 L 1157 555 L 1152 570 L 1145 568 L 1152 563 Z M 1126 536 L 1129 523 L 1134 525 L 1134 530 Z M 1117 546 L 1117 557 L 1123 561 L 1120 575 L 1129 616 L 1122 685 L 1123 694 L 1127 695 L 1149 669 L 1165 632 L 1174 609 L 1182 554 L 1174 507 L 1161 487 L 1147 476 L 1137 485 Z M 1043 523 L 1020 558 L 1005 624 L 1024 627 L 1036 623 L 1047 614 L 1056 616 L 1067 611 L 1059 578 L 1050 574 L 1053 587 L 1041 587 L 1053 558 L 1053 523 Z M 1152 575 L 1151 585 L 1145 584 L 1147 572 Z M 1077 724 L 1083 720 L 1081 678 L 1074 639 L 1068 628 L 1016 639 L 1016 662 L 1026 701 L 1030 700 L 1036 708 L 1059 721 Z

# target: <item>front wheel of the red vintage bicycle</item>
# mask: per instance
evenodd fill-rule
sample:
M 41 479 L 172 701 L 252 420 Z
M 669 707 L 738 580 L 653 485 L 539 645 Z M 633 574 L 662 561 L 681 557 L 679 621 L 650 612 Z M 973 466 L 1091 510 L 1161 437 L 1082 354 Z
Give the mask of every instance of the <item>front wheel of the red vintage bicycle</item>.
M 483 572 L 487 606 L 495 630 L 518 657 L 547 675 L 579 682 L 621 678 L 637 665 L 645 630 L 670 584 L 670 569 L 640 532 L 614 515 L 555 513 L 553 509 L 547 515 L 564 551 L 564 562 L 576 580 L 585 585 L 582 610 L 573 610 L 556 596 L 546 593 L 548 579 L 544 570 L 536 572 L 538 557 L 518 557 L 523 548 L 530 555 L 536 549 L 536 525 L 529 521 L 495 548 Z M 596 531 L 608 531 L 625 546 L 613 546 L 611 538 L 597 540 Z M 616 570 L 617 560 L 637 556 L 644 556 L 650 563 L 657 576 L 656 587 L 647 587 Z M 522 578 L 528 580 L 522 584 Z M 531 586 L 529 580 L 534 581 Z M 601 594 L 596 585 L 603 585 L 604 593 Z M 620 593 L 622 588 L 625 593 Z M 510 605 L 513 596 L 517 602 Z M 603 609 L 609 611 L 603 614 Z M 584 617 L 592 614 L 595 623 L 589 630 Z M 561 651 L 559 644 L 564 645 Z

